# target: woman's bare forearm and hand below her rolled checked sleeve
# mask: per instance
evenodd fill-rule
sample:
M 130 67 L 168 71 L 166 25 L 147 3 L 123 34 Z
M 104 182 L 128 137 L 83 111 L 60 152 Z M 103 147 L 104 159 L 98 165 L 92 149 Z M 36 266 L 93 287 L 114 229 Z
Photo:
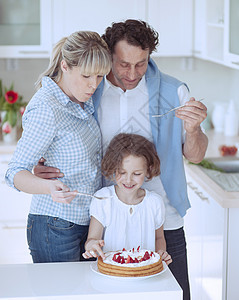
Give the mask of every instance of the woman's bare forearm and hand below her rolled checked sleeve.
M 77 195 L 76 191 L 70 189 L 59 180 L 46 180 L 24 170 L 14 176 L 14 186 L 29 194 L 50 194 L 53 201 L 70 203 Z

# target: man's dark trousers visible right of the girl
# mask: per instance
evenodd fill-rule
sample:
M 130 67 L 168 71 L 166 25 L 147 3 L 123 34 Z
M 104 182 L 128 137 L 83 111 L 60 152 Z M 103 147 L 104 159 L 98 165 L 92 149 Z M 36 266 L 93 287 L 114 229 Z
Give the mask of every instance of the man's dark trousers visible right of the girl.
M 164 230 L 164 236 L 167 252 L 173 260 L 169 269 L 183 290 L 183 300 L 190 300 L 187 249 L 183 227 L 176 230 Z

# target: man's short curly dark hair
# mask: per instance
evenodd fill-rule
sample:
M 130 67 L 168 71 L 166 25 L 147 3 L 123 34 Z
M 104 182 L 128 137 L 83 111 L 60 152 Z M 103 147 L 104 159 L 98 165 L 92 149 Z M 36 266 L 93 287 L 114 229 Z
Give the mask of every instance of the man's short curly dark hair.
M 159 34 L 146 22 L 141 20 L 126 20 L 125 22 L 112 23 L 106 28 L 102 38 L 107 43 L 111 54 L 114 53 L 115 45 L 126 40 L 130 45 L 149 49 L 149 55 L 156 50 L 159 43 Z

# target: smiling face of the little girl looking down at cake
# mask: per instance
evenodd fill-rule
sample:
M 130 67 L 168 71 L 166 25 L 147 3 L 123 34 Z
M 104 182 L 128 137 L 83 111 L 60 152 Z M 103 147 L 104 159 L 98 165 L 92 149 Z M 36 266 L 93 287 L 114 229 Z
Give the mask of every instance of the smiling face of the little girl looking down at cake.
M 127 193 L 138 190 L 147 176 L 147 165 L 144 157 L 129 155 L 122 161 L 121 169 L 116 173 L 118 187 Z

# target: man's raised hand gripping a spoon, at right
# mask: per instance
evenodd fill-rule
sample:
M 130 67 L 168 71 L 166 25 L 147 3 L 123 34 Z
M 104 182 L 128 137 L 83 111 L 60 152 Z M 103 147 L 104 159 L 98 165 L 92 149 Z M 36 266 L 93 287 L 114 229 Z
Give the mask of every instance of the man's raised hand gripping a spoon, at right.
M 193 134 L 200 129 L 200 124 L 206 119 L 207 107 L 191 97 L 186 106 L 176 110 L 175 116 L 184 121 L 186 132 Z

